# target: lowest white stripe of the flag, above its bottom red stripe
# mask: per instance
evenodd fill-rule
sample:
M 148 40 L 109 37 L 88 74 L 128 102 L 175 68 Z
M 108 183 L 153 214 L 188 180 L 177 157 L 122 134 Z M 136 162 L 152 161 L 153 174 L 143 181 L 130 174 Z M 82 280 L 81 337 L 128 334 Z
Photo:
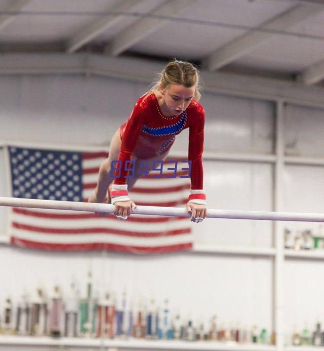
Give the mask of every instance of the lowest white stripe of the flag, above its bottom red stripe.
M 117 245 L 143 246 L 149 248 L 155 246 L 189 244 L 192 242 L 191 234 L 154 238 L 128 237 L 105 233 L 96 233 L 93 235 L 44 235 L 44 233 L 38 234 L 16 228 L 12 229 L 12 233 L 13 236 L 18 239 L 53 244 L 109 243 Z

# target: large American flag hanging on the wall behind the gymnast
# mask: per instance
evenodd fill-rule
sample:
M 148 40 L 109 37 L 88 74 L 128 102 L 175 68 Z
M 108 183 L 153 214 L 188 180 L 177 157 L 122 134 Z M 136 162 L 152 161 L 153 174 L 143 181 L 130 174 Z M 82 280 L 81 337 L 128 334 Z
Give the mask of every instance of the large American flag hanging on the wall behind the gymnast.
M 93 192 L 107 152 L 73 152 L 8 146 L 12 196 L 27 199 L 87 201 Z M 173 159 L 174 160 L 174 159 Z M 163 167 L 162 178 L 140 178 L 130 191 L 137 205 L 184 207 L 190 189 L 188 171 Z M 155 172 L 157 173 L 157 172 Z M 43 250 L 113 250 L 166 253 L 192 248 L 189 218 L 131 215 L 126 221 L 113 214 L 12 208 L 11 243 Z

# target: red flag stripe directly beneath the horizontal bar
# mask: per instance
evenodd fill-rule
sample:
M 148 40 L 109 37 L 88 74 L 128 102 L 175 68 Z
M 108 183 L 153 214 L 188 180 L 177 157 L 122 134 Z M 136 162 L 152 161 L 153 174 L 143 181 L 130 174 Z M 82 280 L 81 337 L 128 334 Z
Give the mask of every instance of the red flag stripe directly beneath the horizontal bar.
M 38 211 L 33 211 L 33 210 L 26 210 L 18 207 L 14 207 L 13 211 L 15 213 L 18 213 L 20 215 L 24 216 L 32 216 L 32 217 L 37 217 L 37 218 L 50 218 L 50 219 L 92 219 L 92 218 L 102 218 L 102 220 L 105 220 L 107 217 L 100 217 L 99 215 L 95 213 L 68 213 L 68 214 L 60 214 L 57 212 L 53 213 L 45 213 L 45 212 L 38 212 Z M 109 220 L 114 219 L 118 220 L 114 215 L 109 214 Z M 143 218 L 140 216 L 130 216 L 127 220 L 130 222 L 141 222 L 141 223 L 161 223 L 161 222 L 170 222 L 173 220 L 181 220 L 181 219 L 186 219 L 186 217 L 147 217 Z

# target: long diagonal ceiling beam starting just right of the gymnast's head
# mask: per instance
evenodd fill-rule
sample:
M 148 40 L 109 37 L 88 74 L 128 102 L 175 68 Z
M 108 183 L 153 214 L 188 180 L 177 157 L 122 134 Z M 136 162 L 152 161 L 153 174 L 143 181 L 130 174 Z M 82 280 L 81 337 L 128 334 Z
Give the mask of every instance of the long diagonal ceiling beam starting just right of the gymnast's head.
M 322 10 L 324 10 L 323 5 L 294 6 L 265 22 L 256 30 L 249 31 L 210 53 L 203 60 L 203 65 L 208 70 L 215 71 L 253 51 L 259 44 L 268 40 L 271 36 L 277 35 L 274 32 L 267 32 L 266 29 L 287 30 Z M 262 31 L 262 29 L 265 30 Z

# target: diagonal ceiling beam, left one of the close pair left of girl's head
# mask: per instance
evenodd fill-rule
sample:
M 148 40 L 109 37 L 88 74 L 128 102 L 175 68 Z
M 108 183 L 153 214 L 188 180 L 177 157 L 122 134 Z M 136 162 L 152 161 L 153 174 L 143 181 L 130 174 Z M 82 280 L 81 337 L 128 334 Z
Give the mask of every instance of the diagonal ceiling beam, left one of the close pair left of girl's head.
M 120 13 L 127 12 L 134 8 L 136 5 L 141 3 L 143 0 L 123 0 L 117 3 L 114 7 L 108 11 Z M 66 45 L 66 52 L 71 54 L 78 50 L 80 47 L 92 41 L 96 36 L 100 35 L 104 31 L 108 30 L 116 23 L 119 23 L 124 19 L 123 15 L 111 15 L 100 19 L 95 19 L 89 26 L 82 29 L 74 37 L 70 38 Z

